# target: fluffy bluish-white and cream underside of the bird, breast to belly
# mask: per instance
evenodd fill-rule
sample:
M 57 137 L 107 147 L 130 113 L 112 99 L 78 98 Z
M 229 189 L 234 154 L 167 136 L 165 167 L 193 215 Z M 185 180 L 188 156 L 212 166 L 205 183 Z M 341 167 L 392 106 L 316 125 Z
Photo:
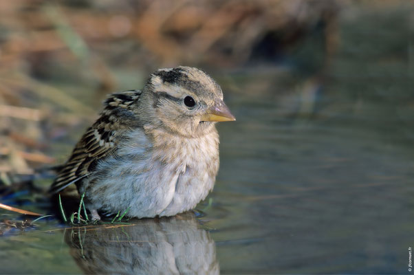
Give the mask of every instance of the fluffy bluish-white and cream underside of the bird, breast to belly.
M 100 176 L 91 175 L 80 192 L 86 192 L 87 198 L 88 193 L 101 194 L 87 200 L 89 208 L 112 213 L 128 208 L 130 217 L 172 216 L 190 210 L 213 189 L 219 167 L 218 150 L 203 151 L 206 142 L 215 139 L 176 143 L 179 148 L 174 152 L 160 152 L 156 146 L 129 148 L 125 155 L 120 151 L 100 162 L 96 173 Z M 160 155 L 174 158 L 164 162 Z M 117 184 L 121 177 L 122 185 Z

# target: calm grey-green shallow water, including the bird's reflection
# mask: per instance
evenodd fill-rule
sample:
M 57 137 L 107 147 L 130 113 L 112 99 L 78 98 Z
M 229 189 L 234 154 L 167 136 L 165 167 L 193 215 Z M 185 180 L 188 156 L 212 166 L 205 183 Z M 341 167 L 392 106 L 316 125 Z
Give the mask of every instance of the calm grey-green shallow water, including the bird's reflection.
M 299 47 L 288 69 L 217 77 L 237 122 L 219 125 L 203 217 L 98 229 L 39 221 L 1 237 L 1 273 L 408 273 L 413 12 L 344 12 L 342 43 L 314 72 L 295 63 Z

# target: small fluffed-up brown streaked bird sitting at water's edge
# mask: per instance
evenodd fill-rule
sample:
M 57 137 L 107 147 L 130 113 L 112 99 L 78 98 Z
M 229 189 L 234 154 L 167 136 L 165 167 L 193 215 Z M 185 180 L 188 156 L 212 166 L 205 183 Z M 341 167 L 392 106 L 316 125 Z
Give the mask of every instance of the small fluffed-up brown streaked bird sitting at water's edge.
M 92 219 L 174 216 L 213 190 L 219 170 L 217 122 L 234 121 L 223 91 L 206 72 L 153 72 L 143 89 L 110 94 L 74 147 L 50 193 L 75 190 Z

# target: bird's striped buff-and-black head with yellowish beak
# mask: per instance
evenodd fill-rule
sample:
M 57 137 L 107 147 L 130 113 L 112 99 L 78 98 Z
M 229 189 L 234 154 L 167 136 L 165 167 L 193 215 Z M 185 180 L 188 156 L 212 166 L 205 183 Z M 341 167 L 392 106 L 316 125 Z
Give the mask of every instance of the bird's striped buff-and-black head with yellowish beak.
M 193 67 L 159 69 L 151 74 L 143 96 L 149 120 L 178 135 L 199 137 L 215 122 L 236 120 L 223 102 L 220 86 Z

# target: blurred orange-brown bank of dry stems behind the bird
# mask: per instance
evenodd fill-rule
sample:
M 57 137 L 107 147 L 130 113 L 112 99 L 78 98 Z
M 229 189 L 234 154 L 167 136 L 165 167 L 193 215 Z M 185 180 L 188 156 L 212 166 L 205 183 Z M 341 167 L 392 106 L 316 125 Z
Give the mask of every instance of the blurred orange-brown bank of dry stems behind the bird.
M 30 173 L 56 157 L 63 161 L 68 148 L 52 149 L 51 141 L 64 140 L 67 131 L 78 136 L 106 94 L 140 89 L 160 67 L 201 67 L 235 97 L 280 94 L 281 87 L 267 86 L 281 72 L 319 85 L 340 43 L 338 12 L 348 5 L 342 0 L 0 3 L 0 153 L 9 156 L 0 171 Z M 245 74 L 257 81 L 247 87 L 239 80 Z

